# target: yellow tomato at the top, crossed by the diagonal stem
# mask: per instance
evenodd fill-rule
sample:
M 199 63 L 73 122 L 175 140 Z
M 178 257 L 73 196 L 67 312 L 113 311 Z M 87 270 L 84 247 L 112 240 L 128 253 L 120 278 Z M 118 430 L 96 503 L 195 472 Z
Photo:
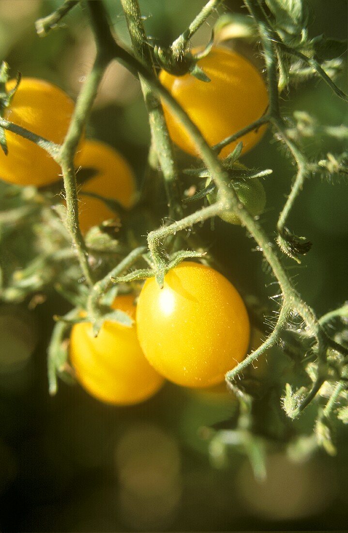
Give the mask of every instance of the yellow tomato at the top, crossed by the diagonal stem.
M 213 47 L 197 65 L 210 82 L 202 82 L 190 74 L 173 76 L 165 70 L 160 72 L 160 81 L 200 128 L 210 146 L 242 130 L 266 111 L 266 85 L 259 71 L 243 56 Z M 188 154 L 199 155 L 184 127 L 165 104 L 163 109 L 171 139 Z M 265 131 L 266 126 L 262 126 L 238 139 L 237 142 L 243 142 L 243 154 L 259 142 Z M 220 156 L 226 157 L 237 142 L 223 148 Z

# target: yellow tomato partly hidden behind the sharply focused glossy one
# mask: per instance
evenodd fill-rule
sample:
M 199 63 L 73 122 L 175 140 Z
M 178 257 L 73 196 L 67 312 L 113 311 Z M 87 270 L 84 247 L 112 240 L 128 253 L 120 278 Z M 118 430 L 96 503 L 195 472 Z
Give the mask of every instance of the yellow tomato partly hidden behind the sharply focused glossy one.
M 135 315 L 134 296 L 118 296 L 113 308 Z M 131 405 L 150 398 L 163 378 L 144 357 L 136 326 L 106 321 L 97 337 L 89 322 L 75 324 L 70 335 L 70 361 L 81 385 L 95 398 Z

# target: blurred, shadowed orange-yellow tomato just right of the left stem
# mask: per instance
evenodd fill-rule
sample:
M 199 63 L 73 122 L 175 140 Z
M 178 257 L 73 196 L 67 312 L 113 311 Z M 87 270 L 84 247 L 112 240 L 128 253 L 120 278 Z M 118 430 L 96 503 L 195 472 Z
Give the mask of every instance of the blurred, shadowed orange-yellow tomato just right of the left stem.
M 75 163 L 77 168 L 96 171 L 96 174 L 79 189 L 79 220 L 82 232 L 117 216 L 104 201 L 86 196 L 84 192 L 93 192 L 117 200 L 123 207 L 131 207 L 134 203 L 136 190 L 134 175 L 119 152 L 103 142 L 86 140 L 82 143 L 81 150 L 77 152 Z

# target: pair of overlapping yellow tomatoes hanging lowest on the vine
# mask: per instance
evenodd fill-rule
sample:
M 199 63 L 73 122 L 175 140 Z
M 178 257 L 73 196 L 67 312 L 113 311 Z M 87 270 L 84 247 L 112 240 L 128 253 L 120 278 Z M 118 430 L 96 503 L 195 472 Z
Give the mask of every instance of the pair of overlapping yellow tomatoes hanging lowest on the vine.
M 70 359 L 77 378 L 96 398 L 117 405 L 155 393 L 163 377 L 186 387 L 221 383 L 245 356 L 250 324 L 234 286 L 209 266 L 185 261 L 164 277 L 148 279 L 135 308 L 119 296 L 113 307 L 135 316 L 131 328 L 104 322 L 72 328 Z M 145 356 L 145 357 L 144 357 Z

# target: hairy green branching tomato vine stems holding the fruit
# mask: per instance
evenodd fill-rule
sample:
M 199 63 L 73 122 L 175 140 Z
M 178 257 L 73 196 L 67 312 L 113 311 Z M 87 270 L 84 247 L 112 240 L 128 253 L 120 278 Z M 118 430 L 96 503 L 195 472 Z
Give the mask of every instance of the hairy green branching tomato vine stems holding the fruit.
M 62 17 L 69 12 L 78 2 L 66 0 L 64 4 L 54 13 L 45 19 L 37 22 L 39 35 L 45 36 L 47 32 L 55 27 Z M 112 287 L 120 282 L 138 281 L 150 277 L 155 277 L 160 286 L 163 286 L 164 275 L 178 262 L 193 257 L 202 257 L 204 252 L 200 250 L 172 249 L 173 237 L 178 232 L 191 228 L 192 225 L 203 222 L 216 215 L 226 214 L 233 211 L 241 220 L 259 249 L 262 251 L 264 259 L 270 265 L 272 274 L 280 287 L 281 302 L 276 310 L 278 316 L 274 329 L 268 338 L 239 364 L 229 370 L 226 374 L 226 381 L 230 388 L 236 392 L 241 402 L 241 414 L 239 426 L 243 430 L 251 432 L 250 419 L 252 416 L 253 391 L 245 385 L 243 372 L 253 364 L 254 361 L 272 347 L 281 343 L 284 332 L 288 329 L 289 321 L 293 317 L 300 317 L 300 335 L 309 341 L 308 353 L 315 360 L 315 365 L 308 372 L 309 383 L 294 389 L 290 384 L 286 385 L 283 399 L 283 407 L 289 418 L 298 417 L 309 403 L 316 397 L 326 382 L 335 381 L 336 386 L 330 394 L 325 406 L 318 408 L 316 420 L 316 431 L 318 435 L 318 445 L 324 446 L 329 453 L 333 452 L 331 441 L 329 419 L 332 416 L 336 402 L 341 398 L 346 387 L 346 358 L 348 349 L 345 348 L 339 335 L 333 336 L 328 333 L 326 324 L 337 317 L 346 317 L 346 305 L 332 311 L 324 317 L 318 318 L 310 305 L 306 303 L 297 292 L 293 281 L 289 278 L 284 268 L 281 254 L 285 254 L 296 262 L 300 262 L 301 255 L 309 252 L 310 243 L 303 237 L 294 235 L 288 228 L 288 220 L 292 212 L 294 202 L 304 187 L 305 180 L 313 173 L 319 173 L 322 168 L 329 168 L 329 155 L 327 160 L 320 160 L 313 163 L 302 150 L 300 143 L 294 138 L 291 128 L 284 120 L 280 103 L 279 88 L 283 88 L 290 80 L 291 58 L 295 57 L 312 69 L 312 74 L 321 77 L 339 98 L 348 101 L 348 97 L 336 86 L 333 80 L 326 74 L 320 61 L 316 59 L 319 44 L 321 50 L 325 49 L 325 42 L 319 38 L 310 40 L 305 34 L 306 15 L 302 2 L 291 7 L 284 14 L 277 2 L 267 0 L 266 4 L 259 0 L 244 0 L 244 5 L 251 15 L 259 35 L 262 47 L 264 63 L 267 71 L 269 108 L 266 113 L 255 120 L 252 124 L 244 127 L 241 131 L 229 135 L 225 140 L 216 146 L 210 147 L 203 138 L 200 129 L 190 120 L 185 110 L 180 107 L 171 94 L 161 85 L 155 75 L 156 61 L 162 62 L 160 66 L 170 69 L 184 68 L 192 75 L 200 76 L 195 70 L 195 62 L 188 56 L 187 64 L 184 61 L 189 50 L 190 38 L 198 28 L 205 22 L 218 6 L 223 5 L 220 0 L 210 0 L 197 15 L 189 27 L 180 35 L 169 49 L 152 51 L 148 45 L 142 15 L 139 10 L 137 0 L 121 0 L 123 12 L 126 17 L 129 34 L 134 49 L 134 55 L 125 50 L 114 40 L 110 29 L 110 23 L 102 2 L 86 0 L 81 5 L 86 9 L 89 16 L 90 26 L 93 29 L 95 43 L 97 47 L 94 66 L 78 96 L 76 108 L 72 116 L 70 127 L 61 146 L 57 146 L 46 139 L 40 138 L 24 128 L 10 123 L 3 118 L 0 119 L 0 128 L 14 132 L 18 135 L 35 142 L 46 150 L 53 159 L 60 164 L 62 169 L 64 190 L 67 201 L 66 215 L 60 209 L 62 218 L 65 220 L 69 231 L 70 239 L 76 250 L 79 264 L 86 282 L 85 290 L 87 298 L 88 320 L 92 322 L 94 332 L 97 334 L 102 328 L 103 322 L 113 318 L 123 324 L 127 322 L 127 316 L 110 314 L 106 312 L 107 305 L 103 303 L 103 297 L 109 293 Z M 285 20 L 284 20 L 285 17 Z M 124 64 L 132 74 L 137 76 L 142 86 L 144 100 L 148 111 L 151 128 L 151 149 L 149 155 L 150 166 L 159 165 L 163 174 L 165 192 L 167 195 L 168 215 L 174 222 L 162 225 L 158 229 L 153 229 L 147 235 L 148 251 L 144 247 L 136 247 L 127 250 L 128 254 L 120 254 L 121 261 L 107 272 L 102 279 L 97 279 L 91 266 L 90 246 L 87 243 L 79 227 L 78 195 L 76 184 L 76 173 L 74 171 L 74 156 L 81 139 L 86 122 L 88 120 L 92 105 L 110 61 L 117 59 Z M 202 82 L 203 83 L 203 82 Z M 175 151 L 165 123 L 161 100 L 165 102 L 170 112 L 180 122 L 181 126 L 189 135 L 195 145 L 207 173 L 211 177 L 217 188 L 217 200 L 209 206 L 198 208 L 197 211 L 184 215 L 181 193 L 178 188 L 179 170 L 176 164 Z M 263 230 L 261 224 L 241 204 L 233 187 L 229 187 L 230 175 L 218 158 L 219 152 L 231 141 L 238 141 L 246 133 L 252 132 L 256 128 L 269 124 L 276 139 L 287 148 L 289 156 L 293 159 L 297 171 L 294 176 L 291 190 L 287 196 L 285 204 L 280 211 L 277 222 L 277 249 L 276 243 L 270 241 L 269 236 Z M 296 125 L 294 126 L 296 130 Z M 297 130 L 296 130 L 297 132 Z M 298 132 L 297 132 L 298 133 Z M 345 160 L 336 161 L 336 172 L 345 172 Z M 189 239 L 187 240 L 190 246 Z M 132 265 L 139 261 L 146 262 L 148 268 L 138 268 L 128 272 Z M 110 302 L 109 302 L 110 303 Z M 108 304 L 109 305 L 109 304 Z M 109 314 L 108 314 L 109 313 Z M 67 352 L 62 350 L 62 340 L 66 333 L 66 324 L 79 321 L 76 312 L 69 313 L 63 317 L 56 325 L 52 343 L 49 348 L 49 380 L 50 390 L 56 391 L 56 373 L 62 373 L 67 359 Z M 63 372 L 64 373 L 64 372 Z M 256 400 L 255 400 L 256 401 Z M 344 407 L 342 407 L 344 409 Z M 341 419 L 347 421 L 345 411 L 341 413 Z M 328 428 L 326 431 L 325 428 Z M 323 429 L 324 428 L 324 429 Z M 250 433 L 251 434 L 251 433 Z M 221 433 L 221 439 L 225 438 L 225 433 Z M 219 438 L 219 433 L 216 435 Z M 228 441 L 228 439 L 227 439 Z

